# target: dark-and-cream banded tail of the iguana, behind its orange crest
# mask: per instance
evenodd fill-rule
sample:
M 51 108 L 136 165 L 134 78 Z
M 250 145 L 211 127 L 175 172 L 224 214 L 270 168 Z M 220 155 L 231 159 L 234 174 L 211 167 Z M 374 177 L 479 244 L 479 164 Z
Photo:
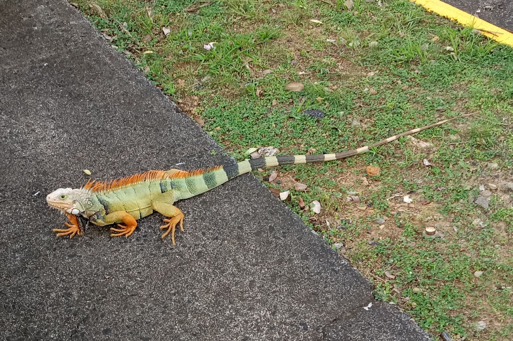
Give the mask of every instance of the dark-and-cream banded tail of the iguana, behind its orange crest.
M 413 133 L 419 132 L 424 129 L 436 127 L 439 125 L 442 125 L 446 122 L 467 117 L 472 114 L 467 113 L 465 115 L 461 115 L 458 117 L 453 117 L 447 120 L 443 120 L 437 123 L 433 123 L 424 127 L 415 128 L 412 130 L 405 131 L 403 133 L 400 133 L 399 135 L 393 135 L 387 139 L 378 141 L 372 145 L 360 147 L 358 149 L 343 151 L 340 153 L 332 153 L 332 154 L 321 154 L 321 155 L 283 155 L 283 156 L 268 156 L 268 157 L 259 157 L 259 158 L 252 158 L 251 160 L 246 160 L 239 162 L 236 165 L 228 166 L 223 169 L 220 169 L 219 172 L 225 172 L 227 180 L 233 179 L 234 177 L 237 177 L 239 175 L 249 173 L 252 170 L 258 169 L 258 168 L 267 168 L 267 167 L 274 167 L 274 166 L 281 166 L 281 165 L 299 165 L 299 164 L 308 164 L 313 162 L 325 162 L 325 161 L 333 161 L 333 160 L 341 160 L 342 158 L 346 158 L 353 155 L 358 155 L 361 153 L 366 152 L 367 150 L 378 147 L 381 145 L 384 145 L 385 143 L 389 143 L 392 141 L 395 141 L 399 139 L 400 137 L 403 137 L 405 135 L 411 135 Z

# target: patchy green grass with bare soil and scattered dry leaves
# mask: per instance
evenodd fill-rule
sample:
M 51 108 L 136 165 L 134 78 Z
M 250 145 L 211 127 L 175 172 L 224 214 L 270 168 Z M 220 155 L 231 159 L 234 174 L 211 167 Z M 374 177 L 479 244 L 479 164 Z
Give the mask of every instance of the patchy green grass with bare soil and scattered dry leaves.
M 433 147 L 401 138 L 343 162 L 281 167 L 280 184 L 264 180 L 270 170 L 254 175 L 291 189 L 286 204 L 340 247 L 378 300 L 396 303 L 433 339 L 513 337 L 512 198 L 491 190 L 488 209 L 473 202 L 480 186 L 510 179 L 512 49 L 404 0 L 354 1 L 351 10 L 341 0 L 89 4 L 78 7 L 111 44 L 239 160 L 258 146 L 347 150 L 474 113 L 415 135 Z M 291 81 L 304 90 L 287 90 Z M 367 175 L 367 165 L 380 174 Z M 300 198 L 320 201 L 321 214 Z M 425 236 L 429 225 L 442 235 Z

